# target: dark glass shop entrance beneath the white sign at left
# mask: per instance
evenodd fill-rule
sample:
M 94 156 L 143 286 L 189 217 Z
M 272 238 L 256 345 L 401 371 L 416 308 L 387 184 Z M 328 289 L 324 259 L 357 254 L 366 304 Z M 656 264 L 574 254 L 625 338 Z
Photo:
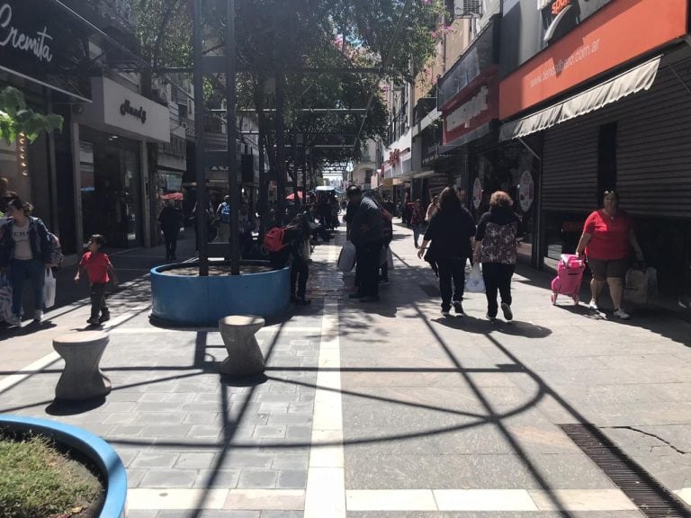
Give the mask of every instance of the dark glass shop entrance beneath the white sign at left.
M 82 225 L 85 240 L 103 234 L 108 246 L 140 246 L 138 143 L 94 130 L 80 140 Z

